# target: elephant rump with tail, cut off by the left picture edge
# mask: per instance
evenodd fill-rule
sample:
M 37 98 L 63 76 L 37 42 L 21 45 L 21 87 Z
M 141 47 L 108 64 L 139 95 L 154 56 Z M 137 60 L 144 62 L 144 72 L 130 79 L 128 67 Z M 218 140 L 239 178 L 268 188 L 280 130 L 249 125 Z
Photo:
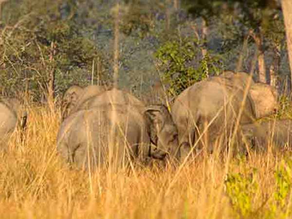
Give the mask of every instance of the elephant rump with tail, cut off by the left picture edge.
M 7 142 L 15 128 L 25 128 L 27 113 L 21 113 L 21 105 L 16 98 L 0 100 L 0 145 Z

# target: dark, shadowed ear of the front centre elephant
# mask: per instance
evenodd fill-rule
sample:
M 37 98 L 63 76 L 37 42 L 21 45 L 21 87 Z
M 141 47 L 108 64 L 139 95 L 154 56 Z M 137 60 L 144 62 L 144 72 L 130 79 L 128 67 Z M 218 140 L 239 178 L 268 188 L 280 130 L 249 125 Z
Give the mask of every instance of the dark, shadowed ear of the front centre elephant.
M 167 117 L 170 115 L 169 111 L 164 105 L 150 105 L 144 110 L 144 117 L 147 122 L 148 134 L 151 142 L 157 145 L 157 134 L 163 128 Z

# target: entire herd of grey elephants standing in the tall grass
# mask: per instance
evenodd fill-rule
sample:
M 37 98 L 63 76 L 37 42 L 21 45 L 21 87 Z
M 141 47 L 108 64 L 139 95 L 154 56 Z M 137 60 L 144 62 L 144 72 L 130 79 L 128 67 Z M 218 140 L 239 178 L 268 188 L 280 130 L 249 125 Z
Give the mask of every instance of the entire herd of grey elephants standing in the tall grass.
M 274 144 L 289 145 L 290 120 L 256 122 L 273 114 L 277 105 L 273 87 L 243 72 L 225 71 L 193 84 L 170 109 L 147 105 L 122 90 L 72 86 L 62 98 L 56 149 L 65 161 L 92 170 L 152 158 L 183 161 L 203 148 L 212 153 L 218 145 L 228 145 L 235 128 L 239 147 L 246 140 L 265 147 L 271 130 Z M 17 100 L 1 100 L 2 139 L 17 124 L 24 128 L 27 116 L 19 115 L 18 108 Z

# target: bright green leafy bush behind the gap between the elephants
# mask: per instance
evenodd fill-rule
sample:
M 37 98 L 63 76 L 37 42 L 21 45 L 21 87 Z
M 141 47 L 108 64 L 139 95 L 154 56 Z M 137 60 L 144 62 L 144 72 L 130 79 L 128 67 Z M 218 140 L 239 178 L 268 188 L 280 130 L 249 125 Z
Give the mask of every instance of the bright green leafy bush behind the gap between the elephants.
M 170 40 L 156 51 L 159 69 L 163 72 L 162 78 L 169 84 L 168 92 L 171 95 L 180 94 L 209 75 L 219 74 L 223 68 L 219 57 L 209 54 L 199 59 L 195 66 L 195 58 L 201 53 L 196 42 L 189 38 Z

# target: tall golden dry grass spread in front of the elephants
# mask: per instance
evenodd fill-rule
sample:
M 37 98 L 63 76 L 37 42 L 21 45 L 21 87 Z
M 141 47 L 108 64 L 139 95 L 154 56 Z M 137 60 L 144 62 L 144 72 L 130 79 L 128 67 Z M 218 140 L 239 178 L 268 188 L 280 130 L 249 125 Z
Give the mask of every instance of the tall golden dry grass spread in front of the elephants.
M 56 153 L 60 113 L 31 106 L 21 142 L 0 154 L 1 219 L 290 218 L 292 160 L 269 147 L 249 158 L 206 155 L 174 167 L 94 173 Z

